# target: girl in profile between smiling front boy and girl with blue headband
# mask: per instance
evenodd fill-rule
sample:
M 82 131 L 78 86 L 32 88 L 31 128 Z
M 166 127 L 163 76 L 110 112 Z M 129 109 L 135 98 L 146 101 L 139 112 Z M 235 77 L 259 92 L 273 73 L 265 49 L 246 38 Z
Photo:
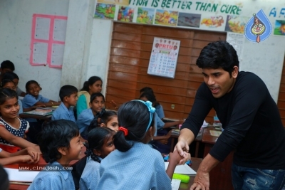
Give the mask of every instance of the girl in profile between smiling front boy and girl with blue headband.
M 88 142 L 85 144 L 87 148 L 86 167 L 79 181 L 81 190 L 96 188 L 100 179 L 100 162 L 115 149 L 113 144 L 114 134 L 115 132 L 108 127 L 95 127 L 90 130 Z

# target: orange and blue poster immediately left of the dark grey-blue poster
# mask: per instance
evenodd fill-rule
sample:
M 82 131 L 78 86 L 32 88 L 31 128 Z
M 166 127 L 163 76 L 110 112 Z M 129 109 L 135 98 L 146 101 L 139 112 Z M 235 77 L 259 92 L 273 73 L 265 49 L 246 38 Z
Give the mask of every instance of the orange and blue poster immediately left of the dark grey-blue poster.
M 156 10 L 155 24 L 176 26 L 178 19 L 177 11 Z

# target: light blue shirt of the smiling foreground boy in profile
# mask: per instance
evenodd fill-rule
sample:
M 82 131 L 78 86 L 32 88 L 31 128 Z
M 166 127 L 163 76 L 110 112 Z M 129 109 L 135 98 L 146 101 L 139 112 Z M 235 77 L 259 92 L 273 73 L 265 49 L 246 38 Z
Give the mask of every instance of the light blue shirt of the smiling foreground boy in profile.
M 75 190 L 71 170 L 63 169 L 58 162 L 48 164 L 51 167 L 55 167 L 55 165 L 58 167 L 58 171 L 40 171 L 28 190 Z

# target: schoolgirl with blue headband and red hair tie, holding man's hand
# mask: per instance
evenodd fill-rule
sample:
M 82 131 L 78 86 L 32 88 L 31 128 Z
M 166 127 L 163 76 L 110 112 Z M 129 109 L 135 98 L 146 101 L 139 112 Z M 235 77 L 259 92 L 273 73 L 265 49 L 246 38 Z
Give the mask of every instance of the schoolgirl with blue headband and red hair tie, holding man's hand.
M 116 149 L 101 161 L 96 189 L 171 190 L 172 174 L 182 157 L 177 151 L 170 153 L 165 171 L 160 152 L 147 145 L 155 132 L 154 118 L 155 108 L 150 101 L 133 100 L 120 106 Z

